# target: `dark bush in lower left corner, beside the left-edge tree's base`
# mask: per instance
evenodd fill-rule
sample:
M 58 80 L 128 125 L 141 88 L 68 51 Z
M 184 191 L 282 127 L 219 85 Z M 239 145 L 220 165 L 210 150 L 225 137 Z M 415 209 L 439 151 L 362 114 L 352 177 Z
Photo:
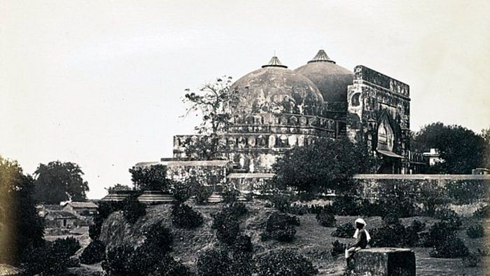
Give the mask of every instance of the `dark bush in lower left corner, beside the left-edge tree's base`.
M 72 237 L 45 242 L 41 247 L 31 247 L 24 251 L 21 268 L 25 275 L 65 275 L 66 268 L 79 264 L 70 256 L 80 248 Z

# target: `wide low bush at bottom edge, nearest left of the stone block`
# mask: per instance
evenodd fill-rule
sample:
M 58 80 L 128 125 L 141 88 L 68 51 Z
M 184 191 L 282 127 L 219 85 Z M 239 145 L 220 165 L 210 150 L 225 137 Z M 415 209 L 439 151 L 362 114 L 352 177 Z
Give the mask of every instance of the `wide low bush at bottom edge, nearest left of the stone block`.
M 311 261 L 291 249 L 269 251 L 256 257 L 257 275 L 316 275 L 318 270 Z

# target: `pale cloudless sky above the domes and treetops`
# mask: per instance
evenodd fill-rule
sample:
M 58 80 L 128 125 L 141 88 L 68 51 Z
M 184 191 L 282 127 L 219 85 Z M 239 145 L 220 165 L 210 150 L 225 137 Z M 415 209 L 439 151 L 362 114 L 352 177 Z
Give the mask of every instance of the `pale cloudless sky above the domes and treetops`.
M 77 163 L 102 198 L 192 132 L 185 88 L 320 48 L 408 83 L 412 130 L 490 126 L 490 1 L 0 0 L 0 155 Z

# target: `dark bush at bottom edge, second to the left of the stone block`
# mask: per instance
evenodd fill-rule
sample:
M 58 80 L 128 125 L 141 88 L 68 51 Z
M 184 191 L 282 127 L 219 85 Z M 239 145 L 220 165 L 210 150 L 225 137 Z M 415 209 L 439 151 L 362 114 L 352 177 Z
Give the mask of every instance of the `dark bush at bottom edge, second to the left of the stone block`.
M 211 249 L 197 258 L 200 276 L 252 275 L 250 254 Z

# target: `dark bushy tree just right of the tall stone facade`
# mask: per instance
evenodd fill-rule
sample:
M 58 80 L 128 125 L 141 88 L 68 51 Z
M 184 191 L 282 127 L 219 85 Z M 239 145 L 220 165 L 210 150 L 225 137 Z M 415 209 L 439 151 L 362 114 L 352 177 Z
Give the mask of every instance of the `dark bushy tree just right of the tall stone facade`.
M 414 134 L 412 149 L 426 152 L 439 149 L 444 160 L 430 168 L 440 174 L 470 174 L 484 165 L 484 138 L 461 125 L 431 123 Z

